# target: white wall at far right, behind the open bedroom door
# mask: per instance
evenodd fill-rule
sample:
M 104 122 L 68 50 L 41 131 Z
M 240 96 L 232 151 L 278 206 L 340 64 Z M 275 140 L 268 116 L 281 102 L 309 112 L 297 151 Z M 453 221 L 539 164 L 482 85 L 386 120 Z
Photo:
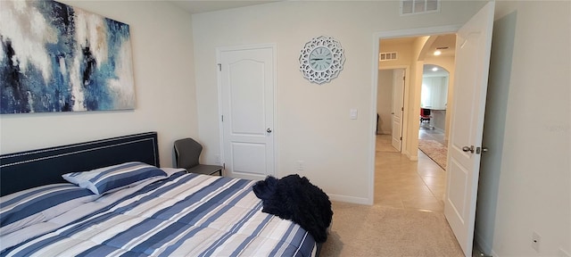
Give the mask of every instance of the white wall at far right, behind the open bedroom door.
M 571 2 L 500 1 L 495 18 L 476 240 L 493 256 L 570 256 Z

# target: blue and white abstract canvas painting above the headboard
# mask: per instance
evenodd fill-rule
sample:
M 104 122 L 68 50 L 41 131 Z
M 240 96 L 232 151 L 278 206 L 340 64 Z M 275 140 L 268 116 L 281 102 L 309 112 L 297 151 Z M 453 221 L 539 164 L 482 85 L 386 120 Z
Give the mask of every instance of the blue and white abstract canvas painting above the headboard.
M 0 113 L 135 108 L 128 24 L 54 1 L 0 1 Z

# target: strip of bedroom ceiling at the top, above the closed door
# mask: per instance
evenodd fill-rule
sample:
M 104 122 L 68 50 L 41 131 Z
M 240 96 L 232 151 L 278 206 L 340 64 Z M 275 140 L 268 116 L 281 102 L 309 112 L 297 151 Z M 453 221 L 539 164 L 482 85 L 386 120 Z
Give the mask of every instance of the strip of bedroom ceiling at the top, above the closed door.
M 203 1 L 195 1 L 195 0 L 167 0 L 171 4 L 175 4 L 185 12 L 194 14 L 200 12 L 214 12 L 219 10 L 226 10 L 256 4 L 268 4 L 273 2 L 278 2 L 282 0 L 249 0 L 249 1 L 242 1 L 242 0 L 227 0 L 227 1 L 219 1 L 219 0 L 203 0 Z

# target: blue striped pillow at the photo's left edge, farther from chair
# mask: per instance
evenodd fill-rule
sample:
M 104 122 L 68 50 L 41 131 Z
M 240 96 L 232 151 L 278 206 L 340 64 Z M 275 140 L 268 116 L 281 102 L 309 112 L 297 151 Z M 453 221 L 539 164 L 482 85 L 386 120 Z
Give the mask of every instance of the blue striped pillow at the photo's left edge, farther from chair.
M 0 236 L 50 220 L 63 212 L 95 200 L 98 195 L 72 184 L 34 187 L 0 197 Z

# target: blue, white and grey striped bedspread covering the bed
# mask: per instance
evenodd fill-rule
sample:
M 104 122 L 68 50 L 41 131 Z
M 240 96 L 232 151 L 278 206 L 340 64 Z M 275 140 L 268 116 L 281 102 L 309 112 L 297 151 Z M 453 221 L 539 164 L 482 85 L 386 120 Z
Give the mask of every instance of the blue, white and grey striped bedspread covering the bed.
M 0 255 L 314 255 L 313 237 L 303 228 L 261 212 L 254 183 L 176 173 L 103 195 L 42 222 L 22 232 L 27 238 L 17 239 L 18 244 Z

